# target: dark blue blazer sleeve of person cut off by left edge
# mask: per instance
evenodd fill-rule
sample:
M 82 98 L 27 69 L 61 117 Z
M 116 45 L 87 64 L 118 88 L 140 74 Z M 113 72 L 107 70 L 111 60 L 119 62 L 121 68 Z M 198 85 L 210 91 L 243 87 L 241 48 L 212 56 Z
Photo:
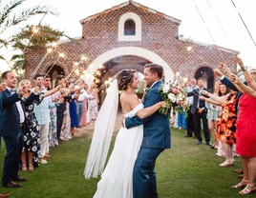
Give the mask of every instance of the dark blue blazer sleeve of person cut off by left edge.
M 3 97 L 2 94 L 0 94 L 0 136 L 3 133 L 3 125 L 5 122 L 4 108 L 11 107 L 19 100 L 20 98 L 17 93 L 14 93 L 9 97 Z

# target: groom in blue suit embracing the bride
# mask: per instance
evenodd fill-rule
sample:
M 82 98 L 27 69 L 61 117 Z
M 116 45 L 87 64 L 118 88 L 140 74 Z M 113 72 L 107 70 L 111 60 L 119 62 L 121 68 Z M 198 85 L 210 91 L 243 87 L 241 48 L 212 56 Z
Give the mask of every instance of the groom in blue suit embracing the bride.
M 158 90 L 164 85 L 161 81 L 163 69 L 157 64 L 144 67 L 146 87 L 150 88 L 144 97 L 144 108 L 162 101 Z M 159 111 L 140 119 L 138 116 L 125 118 L 127 129 L 143 124 L 143 141 L 135 162 L 133 173 L 134 198 L 158 197 L 155 162 L 164 148 L 171 148 L 171 129 L 169 119 Z

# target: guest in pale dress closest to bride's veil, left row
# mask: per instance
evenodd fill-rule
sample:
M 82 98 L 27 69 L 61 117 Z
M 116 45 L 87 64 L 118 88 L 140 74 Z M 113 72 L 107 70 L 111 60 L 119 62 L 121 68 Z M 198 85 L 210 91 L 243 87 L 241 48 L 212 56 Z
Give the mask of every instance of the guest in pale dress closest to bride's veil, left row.
M 96 84 L 93 84 L 89 89 L 89 94 L 92 94 L 93 96 L 95 96 L 95 98 L 88 100 L 87 123 L 90 123 L 91 120 L 95 120 L 97 116 L 99 103 L 97 92 L 98 89 L 96 89 Z

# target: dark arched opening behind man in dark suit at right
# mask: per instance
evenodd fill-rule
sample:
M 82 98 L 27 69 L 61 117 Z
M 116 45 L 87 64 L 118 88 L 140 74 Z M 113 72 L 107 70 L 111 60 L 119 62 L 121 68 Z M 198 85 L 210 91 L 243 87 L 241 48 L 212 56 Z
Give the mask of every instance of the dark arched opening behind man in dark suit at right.
M 196 71 L 195 78 L 198 80 L 199 78 L 203 78 L 204 88 L 213 89 L 214 82 L 214 73 L 213 70 L 209 67 L 203 67 Z

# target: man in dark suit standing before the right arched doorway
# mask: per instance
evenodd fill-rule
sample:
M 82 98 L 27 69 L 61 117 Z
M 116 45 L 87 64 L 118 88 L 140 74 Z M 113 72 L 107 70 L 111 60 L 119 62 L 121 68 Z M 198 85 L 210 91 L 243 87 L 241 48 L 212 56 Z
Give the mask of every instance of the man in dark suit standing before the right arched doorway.
M 203 90 L 208 91 L 208 89 L 203 88 L 203 78 L 198 79 L 198 89 L 193 89 L 187 93 L 187 96 L 193 96 L 193 105 L 191 109 L 191 113 L 193 114 L 194 127 L 195 127 L 195 135 L 198 139 L 197 145 L 202 144 L 202 136 L 201 136 L 201 119 L 203 120 L 203 133 L 206 141 L 206 145 L 212 146 L 210 142 L 210 133 L 208 129 L 208 120 L 206 118 L 207 109 L 205 107 L 204 100 L 200 99 L 200 96 L 203 95 Z

